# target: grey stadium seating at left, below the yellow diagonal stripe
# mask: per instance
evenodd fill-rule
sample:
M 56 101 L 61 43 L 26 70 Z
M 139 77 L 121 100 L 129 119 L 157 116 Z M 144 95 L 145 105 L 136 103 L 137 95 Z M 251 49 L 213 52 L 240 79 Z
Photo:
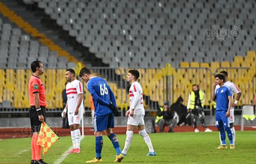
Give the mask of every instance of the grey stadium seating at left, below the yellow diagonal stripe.
M 1 69 L 30 69 L 30 63 L 34 60 L 41 60 L 45 63 L 45 68 L 49 65 L 51 69 L 57 69 L 58 62 L 62 69 L 75 66 L 75 63 L 68 63 L 66 57 L 58 57 L 56 51 L 49 51 L 48 47 L 42 46 L 37 40 L 31 40 L 29 35 L 22 34 L 19 28 L 3 23 L 1 18 L 0 32 Z

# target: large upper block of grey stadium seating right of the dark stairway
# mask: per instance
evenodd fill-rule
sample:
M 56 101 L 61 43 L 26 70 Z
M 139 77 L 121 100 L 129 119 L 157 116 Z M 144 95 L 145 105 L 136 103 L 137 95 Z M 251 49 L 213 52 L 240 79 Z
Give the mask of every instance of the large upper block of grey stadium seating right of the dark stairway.
M 254 48 L 255 1 L 24 0 L 38 3 L 77 42 L 110 67 L 157 67 L 171 62 L 232 62 Z M 238 19 L 237 19 L 238 17 Z M 239 39 L 204 42 L 204 31 L 239 29 Z M 254 30 L 255 31 L 255 30 Z M 247 35 L 250 33 L 251 35 Z M 246 36 L 246 37 L 245 37 Z M 6 36 L 2 36 L 5 38 Z M 6 37 L 8 39 L 8 37 Z M 246 45 L 246 46 L 244 46 Z M 138 48 L 136 48 L 138 47 Z M 110 51 L 111 50 L 111 51 Z M 209 52 L 211 51 L 211 53 Z M 146 58 L 153 53 L 159 60 Z M 182 52 L 182 55 L 180 54 Z M 214 53 L 214 54 L 212 54 Z M 163 58 L 163 56 L 171 58 Z M 125 56 L 125 60 L 118 56 Z M 143 62 L 134 59 L 143 58 Z M 127 64 L 124 64 L 127 62 Z M 173 64 L 178 67 L 177 64 Z

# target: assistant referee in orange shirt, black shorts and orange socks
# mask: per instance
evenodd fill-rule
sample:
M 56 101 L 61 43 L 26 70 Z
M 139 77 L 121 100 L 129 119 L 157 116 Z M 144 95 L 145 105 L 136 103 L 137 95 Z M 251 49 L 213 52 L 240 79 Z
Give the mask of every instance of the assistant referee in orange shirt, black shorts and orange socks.
M 37 145 L 37 139 L 41 124 L 45 121 L 45 87 L 40 76 L 44 74 L 42 62 L 36 60 L 31 63 L 33 75 L 29 80 L 29 118 L 33 137 L 31 141 L 32 160 L 31 164 L 46 164 L 41 159 L 41 146 Z

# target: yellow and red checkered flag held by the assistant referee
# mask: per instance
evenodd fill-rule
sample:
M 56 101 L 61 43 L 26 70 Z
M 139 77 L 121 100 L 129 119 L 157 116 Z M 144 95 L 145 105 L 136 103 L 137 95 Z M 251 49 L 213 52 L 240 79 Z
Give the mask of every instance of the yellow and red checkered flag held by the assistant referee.
M 37 139 L 37 145 L 43 147 L 44 155 L 57 140 L 59 140 L 59 137 L 52 131 L 52 129 L 49 128 L 45 122 L 42 122 Z

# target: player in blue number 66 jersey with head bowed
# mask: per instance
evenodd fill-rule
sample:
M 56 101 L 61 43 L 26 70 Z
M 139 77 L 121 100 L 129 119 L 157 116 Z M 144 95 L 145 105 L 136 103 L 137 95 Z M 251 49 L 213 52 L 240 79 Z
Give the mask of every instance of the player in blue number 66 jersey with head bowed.
M 87 82 L 86 87 L 93 97 L 95 107 L 93 127 L 96 143 L 96 157 L 93 160 L 86 161 L 86 163 L 102 162 L 103 130 L 105 130 L 105 134 L 109 137 L 116 150 L 117 156 L 114 162 L 120 162 L 124 156 L 121 154 L 118 139 L 112 132 L 112 128 L 114 128 L 114 115 L 118 116 L 115 96 L 108 83 L 103 78 L 92 75 L 88 68 L 83 67 L 80 70 L 79 76 L 84 82 Z

